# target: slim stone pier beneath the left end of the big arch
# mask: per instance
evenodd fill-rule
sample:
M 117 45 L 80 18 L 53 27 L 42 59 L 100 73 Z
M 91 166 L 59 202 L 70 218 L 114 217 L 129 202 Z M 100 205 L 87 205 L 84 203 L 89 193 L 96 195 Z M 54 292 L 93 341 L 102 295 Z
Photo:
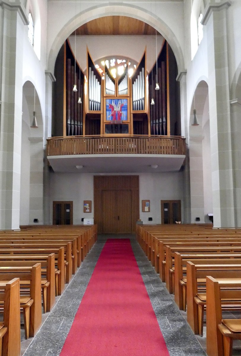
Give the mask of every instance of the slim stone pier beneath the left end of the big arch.
M 51 137 L 52 129 L 52 87 L 53 82 L 55 82 L 55 77 L 51 72 L 45 72 L 45 127 L 44 127 L 44 142 L 46 138 Z M 43 168 L 43 206 L 44 206 L 44 224 L 51 225 L 53 223 L 52 218 L 50 217 L 50 175 L 47 155 L 46 155 L 46 146 L 44 150 L 44 168 Z

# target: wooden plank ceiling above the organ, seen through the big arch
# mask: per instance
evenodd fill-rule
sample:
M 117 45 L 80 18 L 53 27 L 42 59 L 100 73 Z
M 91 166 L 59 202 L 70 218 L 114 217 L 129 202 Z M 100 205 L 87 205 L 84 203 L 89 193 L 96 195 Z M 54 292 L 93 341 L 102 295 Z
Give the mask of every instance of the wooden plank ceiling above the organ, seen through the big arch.
M 147 23 L 127 16 L 105 16 L 89 21 L 76 29 L 76 35 L 155 35 Z M 159 35 L 159 33 L 157 32 Z M 73 33 L 74 35 L 74 33 Z

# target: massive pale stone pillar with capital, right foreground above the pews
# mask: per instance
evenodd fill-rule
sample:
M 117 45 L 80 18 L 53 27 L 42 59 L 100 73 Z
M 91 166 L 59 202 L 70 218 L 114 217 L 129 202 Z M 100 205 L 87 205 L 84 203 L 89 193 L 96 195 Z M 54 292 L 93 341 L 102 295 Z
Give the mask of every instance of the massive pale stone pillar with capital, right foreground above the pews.
M 214 227 L 235 227 L 230 130 L 227 8 L 230 0 L 211 0 L 203 16 L 207 26 L 209 117 Z

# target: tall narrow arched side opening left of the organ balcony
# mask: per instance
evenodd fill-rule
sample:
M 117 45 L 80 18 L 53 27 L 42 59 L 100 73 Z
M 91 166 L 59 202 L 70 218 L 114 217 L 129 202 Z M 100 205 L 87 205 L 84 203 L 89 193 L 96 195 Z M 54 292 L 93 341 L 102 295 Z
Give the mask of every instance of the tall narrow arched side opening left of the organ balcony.
M 22 95 L 20 225 L 43 223 L 43 117 L 36 91 L 35 111 L 38 128 L 31 128 L 34 85 L 27 80 Z

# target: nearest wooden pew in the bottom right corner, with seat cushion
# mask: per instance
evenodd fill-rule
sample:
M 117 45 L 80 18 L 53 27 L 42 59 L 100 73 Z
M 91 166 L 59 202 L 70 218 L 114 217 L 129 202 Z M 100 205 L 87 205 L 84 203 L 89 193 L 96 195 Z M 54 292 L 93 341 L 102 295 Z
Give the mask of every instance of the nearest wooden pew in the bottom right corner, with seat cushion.
M 229 289 L 222 290 L 222 288 Z M 229 356 L 232 350 L 232 340 L 241 340 L 241 320 L 222 319 L 221 299 L 224 298 L 235 298 L 241 301 L 241 279 L 217 281 L 215 278 L 207 276 L 206 315 L 208 356 Z M 229 327 L 235 327 L 236 332 L 232 332 Z

